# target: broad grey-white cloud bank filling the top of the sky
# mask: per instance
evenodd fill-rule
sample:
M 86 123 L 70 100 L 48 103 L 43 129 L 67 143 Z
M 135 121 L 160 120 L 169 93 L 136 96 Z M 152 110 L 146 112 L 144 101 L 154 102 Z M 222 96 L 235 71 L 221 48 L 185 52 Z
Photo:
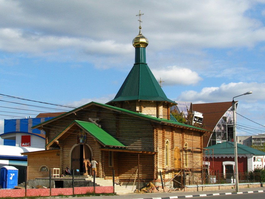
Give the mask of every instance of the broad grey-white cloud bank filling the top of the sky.
M 181 52 L 254 46 L 258 41 L 265 41 L 263 23 L 245 15 L 255 3 L 247 0 L 141 2 L 145 13 L 142 32 L 156 51 L 176 50 L 176 46 L 176 51 Z M 131 41 L 138 32 L 135 17 L 138 9 L 137 3 L 119 0 L 97 3 L 2 0 L 0 49 L 33 56 L 53 55 L 57 59 L 67 55 L 80 59 L 81 56 L 92 63 L 97 54 L 95 65 L 108 68 L 98 65 L 99 59 L 108 61 L 107 56 L 115 56 L 117 60 L 133 52 Z

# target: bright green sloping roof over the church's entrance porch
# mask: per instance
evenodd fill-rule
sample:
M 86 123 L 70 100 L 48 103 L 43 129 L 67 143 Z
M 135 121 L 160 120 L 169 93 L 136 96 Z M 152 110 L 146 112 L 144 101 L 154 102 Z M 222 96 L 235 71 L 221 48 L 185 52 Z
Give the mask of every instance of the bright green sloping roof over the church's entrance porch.
M 124 144 L 120 143 L 116 138 L 113 138 L 109 133 L 99 128 L 94 123 L 79 120 L 75 120 L 75 122 L 79 124 L 82 129 L 94 136 L 104 146 L 126 147 Z

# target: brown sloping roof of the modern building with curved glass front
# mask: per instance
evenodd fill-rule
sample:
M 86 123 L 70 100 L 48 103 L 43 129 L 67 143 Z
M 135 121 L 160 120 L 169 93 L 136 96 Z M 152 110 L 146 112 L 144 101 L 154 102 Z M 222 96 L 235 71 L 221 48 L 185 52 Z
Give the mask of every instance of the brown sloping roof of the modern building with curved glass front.
M 232 102 L 216 102 L 205 104 L 192 104 L 192 110 L 203 114 L 203 127 L 206 130 L 213 131 L 216 124 L 227 110 L 232 107 Z M 206 133 L 203 138 L 203 147 L 207 147 L 211 134 Z

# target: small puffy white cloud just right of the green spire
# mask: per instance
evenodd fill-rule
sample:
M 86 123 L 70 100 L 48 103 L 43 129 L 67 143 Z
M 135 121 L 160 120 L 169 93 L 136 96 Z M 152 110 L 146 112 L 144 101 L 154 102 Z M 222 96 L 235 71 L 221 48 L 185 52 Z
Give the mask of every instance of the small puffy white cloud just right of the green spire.
M 153 69 L 152 73 L 158 81 L 160 78 L 164 81 L 163 85 L 194 85 L 202 80 L 198 73 L 179 66 Z

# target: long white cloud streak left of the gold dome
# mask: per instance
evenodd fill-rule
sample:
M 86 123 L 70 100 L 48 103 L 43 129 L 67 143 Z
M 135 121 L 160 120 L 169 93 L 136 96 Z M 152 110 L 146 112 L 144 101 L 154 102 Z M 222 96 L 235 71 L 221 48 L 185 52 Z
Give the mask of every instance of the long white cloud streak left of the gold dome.
M 126 54 L 131 46 L 116 43 L 113 40 L 95 41 L 86 38 L 68 36 L 41 36 L 25 34 L 20 29 L 0 29 L 0 49 L 8 52 L 41 53 L 55 49 L 79 48 L 89 54 Z M 123 51 L 119 50 L 119 47 Z

